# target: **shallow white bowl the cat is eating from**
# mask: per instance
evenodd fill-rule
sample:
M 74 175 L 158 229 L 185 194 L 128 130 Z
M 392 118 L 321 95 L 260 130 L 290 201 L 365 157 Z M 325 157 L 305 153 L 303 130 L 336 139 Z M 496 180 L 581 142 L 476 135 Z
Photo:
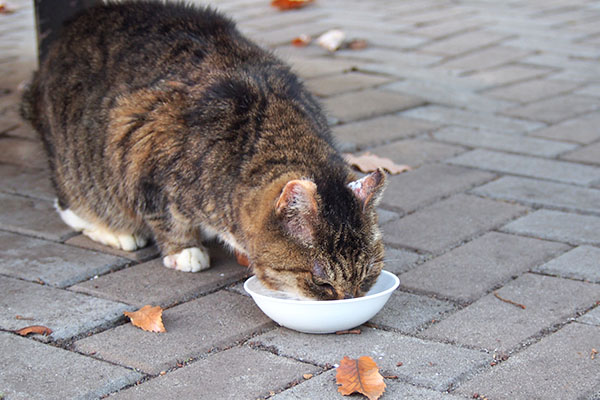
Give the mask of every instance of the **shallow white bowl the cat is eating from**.
M 354 328 L 373 318 L 399 284 L 396 275 L 381 271 L 365 296 L 326 301 L 281 298 L 280 292 L 266 289 L 255 276 L 244 283 L 244 289 L 279 325 L 305 333 L 332 333 Z

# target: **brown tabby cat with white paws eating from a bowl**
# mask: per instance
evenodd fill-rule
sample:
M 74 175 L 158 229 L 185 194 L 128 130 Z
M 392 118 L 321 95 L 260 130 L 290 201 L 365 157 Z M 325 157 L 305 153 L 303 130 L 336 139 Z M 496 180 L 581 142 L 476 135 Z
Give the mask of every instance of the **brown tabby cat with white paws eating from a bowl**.
M 301 80 L 211 9 L 138 1 L 68 21 L 24 93 L 56 208 L 91 239 L 199 271 L 202 241 L 268 288 L 362 296 L 383 267 L 380 169 L 360 179 Z

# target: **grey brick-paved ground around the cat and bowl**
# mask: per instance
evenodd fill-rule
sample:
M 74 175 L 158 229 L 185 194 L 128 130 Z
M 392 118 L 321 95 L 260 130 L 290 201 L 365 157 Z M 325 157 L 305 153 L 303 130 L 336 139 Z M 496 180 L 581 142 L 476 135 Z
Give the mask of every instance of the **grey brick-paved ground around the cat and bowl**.
M 154 248 L 116 252 L 65 227 L 17 115 L 35 68 L 32 2 L 9 3 L 0 398 L 340 399 L 344 355 L 397 376 L 384 399 L 600 398 L 600 1 L 214 2 L 322 98 L 343 150 L 413 167 L 390 178 L 380 210 L 401 287 L 343 336 L 277 327 L 218 246 L 211 270 L 186 274 Z M 290 45 L 331 28 L 368 47 Z M 168 333 L 125 322 L 148 303 L 166 308 Z M 54 333 L 12 333 L 32 324 Z

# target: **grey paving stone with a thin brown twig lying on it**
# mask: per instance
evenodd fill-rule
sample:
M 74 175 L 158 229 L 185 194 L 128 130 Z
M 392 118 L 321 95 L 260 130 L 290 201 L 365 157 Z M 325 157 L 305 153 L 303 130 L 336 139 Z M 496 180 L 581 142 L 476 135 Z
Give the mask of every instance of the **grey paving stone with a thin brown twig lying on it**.
M 510 352 L 591 307 L 599 290 L 600 286 L 592 283 L 525 274 L 494 292 L 524 305 L 525 309 L 488 294 L 422 335 L 489 351 Z

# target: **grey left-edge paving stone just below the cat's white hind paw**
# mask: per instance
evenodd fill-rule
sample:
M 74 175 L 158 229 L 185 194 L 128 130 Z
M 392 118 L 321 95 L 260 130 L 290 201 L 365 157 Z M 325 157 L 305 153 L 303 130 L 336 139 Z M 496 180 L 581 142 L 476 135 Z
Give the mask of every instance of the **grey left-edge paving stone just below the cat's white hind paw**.
M 63 244 L 0 231 L 0 273 L 67 287 L 122 268 L 129 261 Z

